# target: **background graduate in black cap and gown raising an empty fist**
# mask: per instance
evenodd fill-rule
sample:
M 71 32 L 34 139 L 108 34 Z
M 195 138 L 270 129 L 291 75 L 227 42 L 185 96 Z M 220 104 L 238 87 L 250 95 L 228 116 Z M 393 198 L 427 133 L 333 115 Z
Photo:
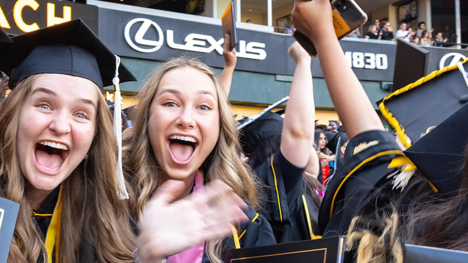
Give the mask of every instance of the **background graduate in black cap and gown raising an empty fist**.
M 241 144 L 262 188 L 266 218 L 278 243 L 318 238 L 321 198 L 319 160 L 314 151 L 314 93 L 311 58 L 294 42 L 296 61 L 285 118 L 266 112 L 242 131 Z M 305 168 L 311 175 L 305 174 Z

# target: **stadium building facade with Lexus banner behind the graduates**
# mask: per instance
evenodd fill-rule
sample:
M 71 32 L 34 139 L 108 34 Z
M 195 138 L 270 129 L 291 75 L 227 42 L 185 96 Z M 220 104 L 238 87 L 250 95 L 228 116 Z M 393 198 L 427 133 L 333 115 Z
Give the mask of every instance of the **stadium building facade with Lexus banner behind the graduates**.
M 219 75 L 224 65 L 223 32 L 219 17 L 228 0 L 0 0 L 0 26 L 15 35 L 44 26 L 82 18 L 102 41 L 122 58 L 138 82 L 121 85 L 124 107 L 137 103 L 134 95 L 161 61 L 178 56 L 200 59 Z M 467 36 L 467 1 L 358 0 L 369 22 L 390 21 L 411 26 L 424 21 L 437 32 L 460 29 Z M 453 3 L 450 4 L 449 2 Z M 458 2 L 460 22 L 453 19 Z M 252 116 L 289 94 L 294 61 L 287 54 L 294 41 L 290 14 L 293 0 L 234 0 L 238 21 L 238 63 L 229 95 L 238 116 Z M 464 7 L 464 8 L 463 8 Z M 453 14 L 450 13 L 453 11 Z M 465 13 L 463 13 L 465 12 Z M 247 22 L 249 20 L 249 22 Z M 453 21 L 452 21 L 453 20 Z M 366 32 L 368 24 L 361 27 Z M 464 29 L 464 30 L 463 30 Z M 447 31 L 450 33 L 451 31 Z M 455 32 L 455 31 L 454 31 Z M 468 42 L 468 40 L 466 40 Z M 394 41 L 345 38 L 342 47 L 370 100 L 379 101 L 392 89 L 396 44 Z M 466 50 L 440 48 L 431 56 L 430 70 L 456 63 Z M 431 51 L 432 52 L 432 51 Z M 446 58 L 445 58 L 446 57 Z M 442 59 L 443 58 L 443 59 Z M 444 61 L 442 61 L 442 60 Z M 329 97 L 320 63 L 313 58 L 314 97 L 321 124 L 339 120 Z M 345 88 L 345 87 L 344 87 Z M 375 104 L 377 109 L 377 104 Z

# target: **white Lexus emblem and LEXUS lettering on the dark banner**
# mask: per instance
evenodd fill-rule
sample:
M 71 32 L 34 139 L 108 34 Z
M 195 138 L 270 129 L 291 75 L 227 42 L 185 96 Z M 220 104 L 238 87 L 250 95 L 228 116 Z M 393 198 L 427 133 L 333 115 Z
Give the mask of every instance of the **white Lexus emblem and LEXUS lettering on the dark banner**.
M 132 27 L 138 28 L 134 36 L 131 35 L 130 31 Z M 148 29 L 153 28 L 153 36 L 145 35 L 148 33 Z M 219 55 L 223 54 L 223 43 L 224 38 L 216 40 L 210 35 L 190 33 L 184 38 L 184 43 L 176 43 L 174 41 L 174 30 L 167 29 L 166 36 L 163 33 L 161 27 L 154 21 L 147 18 L 134 18 L 125 25 L 124 37 L 127 44 L 129 44 L 134 50 L 143 53 L 152 53 L 161 49 L 164 44 L 164 37 L 166 37 L 167 44 L 169 47 L 183 51 L 194 51 L 201 53 L 211 53 L 216 51 Z M 219 34 L 218 34 L 219 35 Z M 138 45 L 137 45 L 138 44 Z M 249 42 L 244 40 L 239 41 L 238 51 L 236 56 L 240 58 L 250 58 L 263 60 L 266 58 L 266 52 L 264 43 L 260 42 Z

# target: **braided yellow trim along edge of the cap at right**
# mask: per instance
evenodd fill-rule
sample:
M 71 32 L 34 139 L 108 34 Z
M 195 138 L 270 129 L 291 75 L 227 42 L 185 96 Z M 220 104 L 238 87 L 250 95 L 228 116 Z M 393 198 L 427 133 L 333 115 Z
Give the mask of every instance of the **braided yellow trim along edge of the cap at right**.
M 465 64 L 467 61 L 468 61 L 468 58 L 465 59 L 462 62 L 462 64 Z M 458 69 L 457 65 L 446 66 L 443 69 L 433 71 L 433 72 L 429 73 L 429 75 L 427 75 L 425 77 L 422 77 L 419 80 L 416 80 L 415 82 L 413 82 L 411 84 L 408 84 L 403 88 L 395 90 L 393 93 L 386 96 L 382 100 L 382 102 L 380 102 L 379 110 L 382 113 L 382 116 L 388 121 L 388 124 L 390 124 L 390 126 L 392 126 L 392 128 L 395 129 L 395 131 L 398 134 L 398 138 L 400 138 L 400 140 L 402 141 L 403 145 L 406 148 L 409 148 L 409 146 L 411 146 L 411 143 L 405 138 L 405 128 L 393 116 L 393 114 L 390 112 L 390 110 L 387 108 L 387 106 L 385 106 L 385 102 L 388 101 L 389 99 L 391 99 L 392 97 L 398 96 L 398 95 L 400 95 L 402 93 L 405 93 L 405 92 L 407 92 L 407 91 L 409 91 L 409 90 L 411 90 L 413 88 L 417 88 L 417 87 L 421 86 L 422 84 L 424 84 L 424 83 L 426 83 L 426 82 L 428 82 L 430 80 L 433 80 L 434 78 L 439 77 L 441 74 L 452 71 L 452 70 L 455 70 L 455 69 Z

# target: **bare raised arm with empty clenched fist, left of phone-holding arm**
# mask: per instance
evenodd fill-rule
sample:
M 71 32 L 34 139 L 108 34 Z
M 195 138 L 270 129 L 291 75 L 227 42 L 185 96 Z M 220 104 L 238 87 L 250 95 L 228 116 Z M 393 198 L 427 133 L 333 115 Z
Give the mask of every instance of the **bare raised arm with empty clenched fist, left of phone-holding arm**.
M 306 167 L 314 143 L 315 105 L 310 71 L 311 58 L 294 42 L 289 54 L 296 61 L 281 134 L 281 153 L 292 165 Z

